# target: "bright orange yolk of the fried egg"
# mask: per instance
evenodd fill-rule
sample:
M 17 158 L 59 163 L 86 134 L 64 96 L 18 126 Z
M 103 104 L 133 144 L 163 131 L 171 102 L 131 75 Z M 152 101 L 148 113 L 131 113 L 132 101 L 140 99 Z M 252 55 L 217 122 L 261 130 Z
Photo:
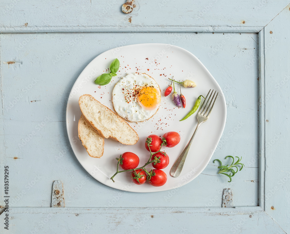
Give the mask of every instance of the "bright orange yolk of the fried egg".
M 146 109 L 154 109 L 160 103 L 160 91 L 154 87 L 144 87 L 138 93 L 138 102 Z

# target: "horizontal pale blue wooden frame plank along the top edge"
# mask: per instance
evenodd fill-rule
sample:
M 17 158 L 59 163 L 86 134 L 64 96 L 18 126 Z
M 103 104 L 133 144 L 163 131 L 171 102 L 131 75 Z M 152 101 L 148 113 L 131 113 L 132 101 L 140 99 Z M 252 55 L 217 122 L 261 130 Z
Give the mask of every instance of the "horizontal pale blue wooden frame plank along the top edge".
M 150 31 L 150 27 L 153 26 L 155 31 L 159 32 L 164 27 L 169 31 L 180 31 L 184 30 L 180 26 L 211 26 L 208 28 L 210 31 L 223 32 L 226 29 L 236 32 L 239 30 L 236 27 L 243 26 L 240 28 L 242 31 L 258 32 L 286 7 L 289 1 L 241 0 L 230 1 L 227 4 L 218 0 L 198 0 L 194 3 L 190 0 L 182 3 L 177 0 L 135 1 L 137 7 L 131 14 L 121 11 L 122 4 L 123 2 L 119 1 L 106 3 L 99 0 L 74 0 L 69 3 L 2 0 L 0 31 Z M 194 31 L 196 30 L 199 31 L 197 27 L 194 28 Z

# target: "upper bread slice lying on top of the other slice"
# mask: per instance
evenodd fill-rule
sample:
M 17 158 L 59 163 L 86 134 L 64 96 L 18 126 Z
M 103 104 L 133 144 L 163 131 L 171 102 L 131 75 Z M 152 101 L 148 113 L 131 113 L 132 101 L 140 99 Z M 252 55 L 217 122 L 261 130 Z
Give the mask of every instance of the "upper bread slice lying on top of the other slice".
M 137 132 L 119 115 L 102 105 L 93 96 L 84 94 L 79 98 L 84 119 L 104 138 L 112 138 L 124 145 L 134 145 L 139 140 Z

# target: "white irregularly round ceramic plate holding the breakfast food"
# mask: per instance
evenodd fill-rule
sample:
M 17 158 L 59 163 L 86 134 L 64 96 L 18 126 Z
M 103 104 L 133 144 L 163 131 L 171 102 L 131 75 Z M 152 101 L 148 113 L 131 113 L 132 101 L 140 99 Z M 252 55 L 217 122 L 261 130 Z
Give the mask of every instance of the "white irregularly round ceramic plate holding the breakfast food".
M 98 86 L 94 83 L 97 76 L 106 72 L 110 63 L 118 58 L 120 71 L 117 76 L 106 86 Z M 162 91 L 161 106 L 157 113 L 147 121 L 139 124 L 129 123 L 139 135 L 139 141 L 135 145 L 122 145 L 111 139 L 105 139 L 104 155 L 100 158 L 92 158 L 88 155 L 78 138 L 77 125 L 81 116 L 78 100 L 83 94 L 90 94 L 113 110 L 112 90 L 116 82 L 127 73 L 142 72 L 152 76 Z M 177 108 L 172 101 L 172 96 L 164 97 L 164 90 L 170 84 L 168 78 L 176 80 L 193 80 L 197 84 L 195 88 L 182 87 L 182 93 L 186 98 L 186 108 Z M 179 92 L 179 87 L 175 86 Z M 206 95 L 209 89 L 219 92 L 219 98 L 215 102 L 209 119 L 203 123 L 191 145 L 184 168 L 179 177 L 170 176 L 170 168 L 187 145 L 197 125 L 196 114 L 190 118 L 182 119 L 193 107 L 199 95 Z M 168 44 L 135 44 L 122 46 L 108 50 L 97 56 L 81 72 L 68 98 L 66 109 L 66 127 L 68 138 L 77 157 L 84 169 L 101 183 L 131 192 L 157 192 L 170 190 L 189 183 L 195 179 L 209 163 L 213 152 L 222 136 L 226 123 L 226 101 L 222 90 L 206 67 L 192 53 L 183 48 Z M 166 132 L 175 131 L 181 135 L 180 143 L 173 148 L 166 148 L 170 162 L 163 169 L 167 174 L 167 182 L 164 186 L 153 187 L 147 182 L 136 185 L 131 181 L 130 173 L 119 173 L 113 181 L 110 177 L 116 172 L 117 160 L 120 154 L 130 151 L 140 158 L 139 166 L 144 165 L 150 154 L 145 149 L 146 137 L 150 134 L 162 136 Z M 148 165 L 150 166 L 150 165 Z M 152 168 L 152 167 L 151 167 Z

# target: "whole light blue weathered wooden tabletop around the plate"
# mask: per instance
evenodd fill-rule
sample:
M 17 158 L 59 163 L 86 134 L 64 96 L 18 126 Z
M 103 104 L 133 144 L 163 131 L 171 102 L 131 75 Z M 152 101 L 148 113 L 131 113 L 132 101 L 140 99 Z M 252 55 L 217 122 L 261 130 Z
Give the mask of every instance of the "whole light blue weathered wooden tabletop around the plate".
M 290 233 L 289 0 L 136 0 L 128 15 L 125 1 L 0 2 L 1 233 Z M 192 52 L 220 84 L 227 121 L 213 159 L 243 157 L 233 182 L 211 161 L 181 188 L 136 194 L 78 163 L 65 121 L 76 78 L 108 49 L 151 42 Z M 64 208 L 51 208 L 55 180 Z M 221 208 L 224 188 L 233 208 Z

